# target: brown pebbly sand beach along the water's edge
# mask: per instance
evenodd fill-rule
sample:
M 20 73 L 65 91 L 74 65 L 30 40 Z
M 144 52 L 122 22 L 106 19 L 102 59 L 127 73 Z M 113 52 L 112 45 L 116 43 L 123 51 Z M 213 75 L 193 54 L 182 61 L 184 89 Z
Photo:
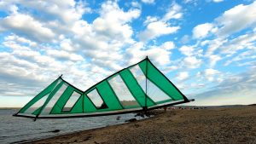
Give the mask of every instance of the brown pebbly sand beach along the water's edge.
M 159 111 L 153 118 L 33 143 L 255 143 L 256 107 Z

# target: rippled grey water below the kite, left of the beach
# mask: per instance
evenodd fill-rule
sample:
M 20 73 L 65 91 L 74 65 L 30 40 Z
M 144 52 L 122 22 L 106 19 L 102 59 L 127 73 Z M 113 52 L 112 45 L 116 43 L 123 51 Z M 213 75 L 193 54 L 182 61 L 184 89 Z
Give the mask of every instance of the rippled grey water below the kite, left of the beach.
M 22 143 L 55 135 L 67 134 L 79 130 L 90 130 L 114 124 L 123 124 L 125 120 L 135 118 L 135 113 L 102 116 L 92 118 L 37 119 L 19 118 L 12 115 L 15 109 L 0 109 L 0 143 Z M 117 117 L 120 117 L 117 120 Z M 137 120 L 143 119 L 136 117 Z M 53 132 L 60 130 L 59 132 Z

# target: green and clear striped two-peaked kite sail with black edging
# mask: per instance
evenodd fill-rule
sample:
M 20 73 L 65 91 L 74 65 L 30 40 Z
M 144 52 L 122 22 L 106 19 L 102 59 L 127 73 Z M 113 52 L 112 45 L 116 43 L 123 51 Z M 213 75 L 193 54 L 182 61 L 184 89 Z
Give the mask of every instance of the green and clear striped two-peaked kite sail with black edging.
M 59 77 L 14 116 L 93 117 L 143 112 L 189 101 L 147 57 L 113 73 L 85 91 Z

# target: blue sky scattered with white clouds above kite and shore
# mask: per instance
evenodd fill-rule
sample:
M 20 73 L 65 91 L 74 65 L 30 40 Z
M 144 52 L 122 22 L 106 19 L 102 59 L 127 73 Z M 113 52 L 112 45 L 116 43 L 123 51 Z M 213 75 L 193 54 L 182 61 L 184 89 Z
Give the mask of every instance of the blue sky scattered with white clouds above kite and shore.
M 0 107 L 63 74 L 88 89 L 147 55 L 189 105 L 256 103 L 256 1 L 1 0 Z

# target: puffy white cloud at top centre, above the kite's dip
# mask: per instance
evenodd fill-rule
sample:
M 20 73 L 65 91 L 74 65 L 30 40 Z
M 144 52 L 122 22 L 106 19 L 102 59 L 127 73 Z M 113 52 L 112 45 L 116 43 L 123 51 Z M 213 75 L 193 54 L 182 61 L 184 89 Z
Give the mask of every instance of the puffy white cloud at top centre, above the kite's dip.
M 92 30 L 106 40 L 130 39 L 133 32 L 127 23 L 136 19 L 140 13 L 140 9 L 129 9 L 125 12 L 119 9 L 118 3 L 108 1 L 102 4 L 101 15 L 93 21 Z

